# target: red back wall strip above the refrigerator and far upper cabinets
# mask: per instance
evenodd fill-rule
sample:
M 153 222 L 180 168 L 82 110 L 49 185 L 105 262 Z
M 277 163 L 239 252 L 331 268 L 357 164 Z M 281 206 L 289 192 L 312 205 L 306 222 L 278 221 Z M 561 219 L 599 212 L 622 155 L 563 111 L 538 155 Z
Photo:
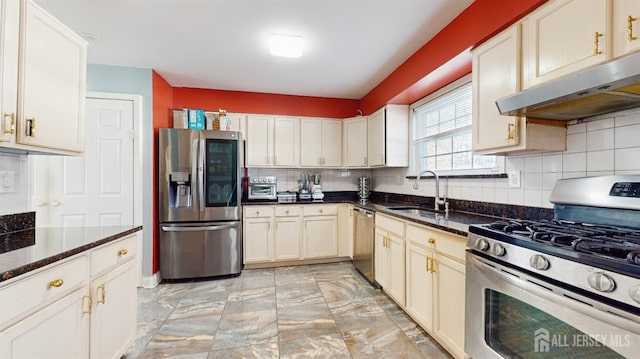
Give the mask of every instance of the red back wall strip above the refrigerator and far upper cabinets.
M 338 98 L 276 95 L 257 92 L 174 88 L 175 108 L 293 116 L 353 117 L 359 101 Z

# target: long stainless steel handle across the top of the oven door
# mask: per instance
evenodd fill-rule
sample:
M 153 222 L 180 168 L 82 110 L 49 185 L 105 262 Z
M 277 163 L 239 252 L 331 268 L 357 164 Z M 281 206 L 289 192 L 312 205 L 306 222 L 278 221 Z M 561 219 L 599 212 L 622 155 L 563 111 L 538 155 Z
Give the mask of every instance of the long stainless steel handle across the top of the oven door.
M 498 263 L 491 262 L 487 264 L 484 260 L 472 253 L 467 253 L 467 263 L 484 275 L 493 275 L 497 278 L 491 280 L 491 283 L 500 283 L 500 280 L 506 281 L 521 290 L 529 292 L 534 296 L 541 297 L 549 302 L 556 303 L 559 308 L 568 308 L 570 310 L 583 313 L 592 318 L 597 318 L 605 323 L 610 323 L 618 328 L 624 328 L 630 332 L 640 334 L 640 317 L 631 313 L 617 310 L 611 306 L 605 305 L 597 300 L 584 297 L 576 292 L 564 289 L 533 276 L 527 275 L 522 271 L 504 267 Z M 467 272 L 467 276 L 469 273 Z M 500 289 L 500 288 L 498 288 Z M 611 315 L 617 314 L 617 315 Z

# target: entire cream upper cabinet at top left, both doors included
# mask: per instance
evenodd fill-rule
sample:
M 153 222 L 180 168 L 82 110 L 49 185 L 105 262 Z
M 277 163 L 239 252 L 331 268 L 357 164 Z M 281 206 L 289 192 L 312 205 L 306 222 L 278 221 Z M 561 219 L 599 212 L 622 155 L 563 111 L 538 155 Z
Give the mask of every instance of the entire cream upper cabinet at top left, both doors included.
M 1 5 L 2 138 L 6 144 L 0 146 L 82 152 L 87 44 L 32 1 L 20 2 L 18 13 L 17 3 Z M 19 51 L 15 46 L 18 22 Z

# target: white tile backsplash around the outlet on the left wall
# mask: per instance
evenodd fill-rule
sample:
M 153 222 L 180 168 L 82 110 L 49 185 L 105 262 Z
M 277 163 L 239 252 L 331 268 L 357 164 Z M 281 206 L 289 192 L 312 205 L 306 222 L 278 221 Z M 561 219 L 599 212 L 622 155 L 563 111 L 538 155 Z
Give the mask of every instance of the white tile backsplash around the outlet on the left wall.
M 0 192 L 0 215 L 29 210 L 29 162 L 26 155 L 0 153 L 0 172 L 15 174 L 15 191 Z

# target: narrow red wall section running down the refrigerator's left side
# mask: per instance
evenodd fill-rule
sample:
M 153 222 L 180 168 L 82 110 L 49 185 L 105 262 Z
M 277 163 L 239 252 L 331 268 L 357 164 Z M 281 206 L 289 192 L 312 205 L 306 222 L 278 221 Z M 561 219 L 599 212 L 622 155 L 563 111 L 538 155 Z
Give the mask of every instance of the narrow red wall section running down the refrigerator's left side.
M 173 88 L 162 76 L 153 71 L 153 261 L 152 273 L 158 272 L 158 133 L 160 128 L 173 127 L 171 109 L 173 108 Z

